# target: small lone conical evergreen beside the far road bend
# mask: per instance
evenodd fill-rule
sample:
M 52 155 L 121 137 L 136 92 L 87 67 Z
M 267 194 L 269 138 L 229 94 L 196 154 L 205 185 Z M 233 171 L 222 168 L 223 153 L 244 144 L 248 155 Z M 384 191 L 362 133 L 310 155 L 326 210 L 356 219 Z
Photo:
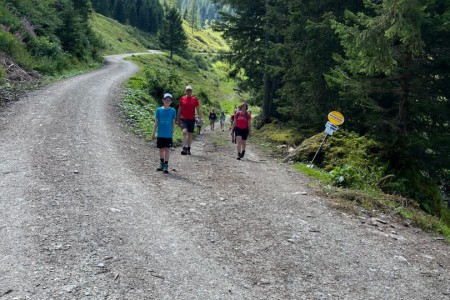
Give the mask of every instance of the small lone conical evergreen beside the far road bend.
M 164 49 L 173 53 L 182 53 L 186 48 L 186 34 L 183 29 L 183 21 L 178 10 L 173 7 L 164 16 L 164 22 L 159 32 L 159 40 Z

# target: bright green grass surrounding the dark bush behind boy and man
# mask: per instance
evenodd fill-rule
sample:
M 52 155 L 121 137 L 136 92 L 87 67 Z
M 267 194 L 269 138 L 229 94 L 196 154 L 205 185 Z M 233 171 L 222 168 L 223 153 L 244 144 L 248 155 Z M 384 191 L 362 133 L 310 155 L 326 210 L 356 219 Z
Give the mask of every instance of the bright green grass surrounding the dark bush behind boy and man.
M 150 139 L 153 128 L 153 115 L 155 109 L 161 105 L 158 97 L 149 95 L 146 79 L 147 70 L 169 70 L 172 74 L 176 74 L 181 81 L 176 85 L 176 90 L 167 91 L 174 95 L 176 105 L 178 98 L 184 93 L 186 84 L 191 84 L 194 88 L 194 95 L 204 93 L 209 98 L 209 102 L 205 103 L 205 99 L 200 97 L 203 118 L 206 119 L 210 109 L 220 107 L 227 109 L 229 107 L 230 113 L 233 111 L 234 104 L 242 101 L 230 85 L 230 81 L 226 85 L 221 84 L 224 73 L 220 74 L 217 69 L 210 67 L 208 69 L 200 69 L 196 62 L 187 60 L 185 58 L 174 56 L 171 60 L 168 54 L 163 55 L 138 55 L 127 58 L 137 64 L 141 70 L 131 77 L 126 83 L 127 93 L 126 97 L 121 103 L 121 108 L 127 116 L 128 123 L 133 130 L 143 136 L 145 139 Z M 222 106 L 225 104 L 224 106 Z M 227 112 L 228 113 L 228 112 Z M 180 144 L 181 131 L 176 127 L 174 133 L 174 144 Z M 217 141 L 219 143 L 219 141 Z

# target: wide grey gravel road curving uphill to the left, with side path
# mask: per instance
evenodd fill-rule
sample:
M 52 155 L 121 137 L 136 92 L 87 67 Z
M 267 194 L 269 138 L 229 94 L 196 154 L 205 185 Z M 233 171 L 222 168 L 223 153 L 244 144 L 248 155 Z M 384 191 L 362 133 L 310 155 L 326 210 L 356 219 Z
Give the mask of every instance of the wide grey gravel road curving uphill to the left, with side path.
M 120 58 L 0 112 L 1 300 L 450 299 L 448 243 L 336 211 L 226 132 L 156 172 Z

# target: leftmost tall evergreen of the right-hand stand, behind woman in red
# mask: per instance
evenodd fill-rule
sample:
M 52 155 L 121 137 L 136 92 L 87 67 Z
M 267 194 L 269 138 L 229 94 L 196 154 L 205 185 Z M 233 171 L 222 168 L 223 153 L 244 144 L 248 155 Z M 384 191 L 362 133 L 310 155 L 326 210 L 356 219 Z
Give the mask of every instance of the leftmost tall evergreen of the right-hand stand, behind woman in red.
M 221 22 L 214 29 L 222 31 L 231 47 L 230 63 L 242 68 L 248 77 L 244 89 L 252 90 L 256 99 L 262 99 L 261 124 L 272 117 L 272 101 L 277 88 L 275 68 L 271 67 L 273 56 L 270 53 L 272 24 L 267 19 L 269 0 L 224 0 L 219 3 L 229 5 L 233 13 L 221 14 Z

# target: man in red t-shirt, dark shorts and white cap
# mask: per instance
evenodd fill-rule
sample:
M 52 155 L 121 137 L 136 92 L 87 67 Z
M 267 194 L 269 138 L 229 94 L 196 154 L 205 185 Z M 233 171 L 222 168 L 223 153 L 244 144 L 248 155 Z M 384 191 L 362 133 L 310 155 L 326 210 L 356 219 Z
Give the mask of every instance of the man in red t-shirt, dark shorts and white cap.
M 183 129 L 183 150 L 181 155 L 191 155 L 192 134 L 195 127 L 195 112 L 197 111 L 197 123 L 202 123 L 202 112 L 198 98 L 192 96 L 192 87 L 186 86 L 186 95 L 181 97 L 178 108 L 178 124 Z

